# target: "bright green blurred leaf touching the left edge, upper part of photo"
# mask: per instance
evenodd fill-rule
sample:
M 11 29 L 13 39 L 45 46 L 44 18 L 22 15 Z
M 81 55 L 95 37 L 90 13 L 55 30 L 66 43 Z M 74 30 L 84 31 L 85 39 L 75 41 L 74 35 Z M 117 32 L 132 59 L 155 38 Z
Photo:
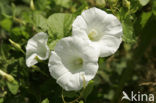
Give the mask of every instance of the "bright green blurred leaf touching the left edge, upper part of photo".
M 5 30 L 10 31 L 12 27 L 12 21 L 10 19 L 4 19 L 0 21 L 0 26 Z

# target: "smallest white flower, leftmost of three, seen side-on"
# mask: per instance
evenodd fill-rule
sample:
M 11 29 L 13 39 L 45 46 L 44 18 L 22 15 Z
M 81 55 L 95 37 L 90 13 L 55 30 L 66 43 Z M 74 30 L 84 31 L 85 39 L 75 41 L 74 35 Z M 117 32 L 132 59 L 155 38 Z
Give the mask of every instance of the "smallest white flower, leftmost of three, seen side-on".
M 35 65 L 39 60 L 46 60 L 49 57 L 49 47 L 47 46 L 48 35 L 40 32 L 28 40 L 26 46 L 26 65 Z

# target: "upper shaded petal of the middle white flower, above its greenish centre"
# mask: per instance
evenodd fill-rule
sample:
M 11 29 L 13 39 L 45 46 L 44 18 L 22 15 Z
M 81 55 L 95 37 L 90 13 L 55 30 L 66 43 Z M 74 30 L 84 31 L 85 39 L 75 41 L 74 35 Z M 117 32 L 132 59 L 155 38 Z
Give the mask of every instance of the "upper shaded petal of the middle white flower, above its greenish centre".
M 73 59 L 75 56 L 81 56 L 86 58 L 86 60 L 98 60 L 98 51 L 88 42 L 74 36 L 60 40 L 56 44 L 55 51 L 65 64 L 68 64 L 66 63 L 67 59 Z

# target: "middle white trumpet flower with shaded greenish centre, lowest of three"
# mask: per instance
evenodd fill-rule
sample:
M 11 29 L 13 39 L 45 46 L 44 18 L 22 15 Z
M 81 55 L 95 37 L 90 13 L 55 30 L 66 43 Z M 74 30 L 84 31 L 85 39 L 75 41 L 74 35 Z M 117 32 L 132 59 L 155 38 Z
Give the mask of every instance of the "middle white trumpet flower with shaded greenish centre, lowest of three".
M 61 39 L 51 52 L 49 71 L 66 91 L 77 91 L 94 78 L 98 70 L 95 49 L 78 37 Z

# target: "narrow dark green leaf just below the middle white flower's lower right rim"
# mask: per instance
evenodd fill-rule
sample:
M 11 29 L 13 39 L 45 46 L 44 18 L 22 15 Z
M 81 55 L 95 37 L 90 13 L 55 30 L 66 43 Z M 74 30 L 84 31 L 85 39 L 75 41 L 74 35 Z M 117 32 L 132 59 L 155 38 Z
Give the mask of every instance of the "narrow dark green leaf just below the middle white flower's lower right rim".
M 88 86 L 82 91 L 82 97 L 86 99 L 88 95 L 92 92 L 94 87 L 94 81 L 89 81 Z

